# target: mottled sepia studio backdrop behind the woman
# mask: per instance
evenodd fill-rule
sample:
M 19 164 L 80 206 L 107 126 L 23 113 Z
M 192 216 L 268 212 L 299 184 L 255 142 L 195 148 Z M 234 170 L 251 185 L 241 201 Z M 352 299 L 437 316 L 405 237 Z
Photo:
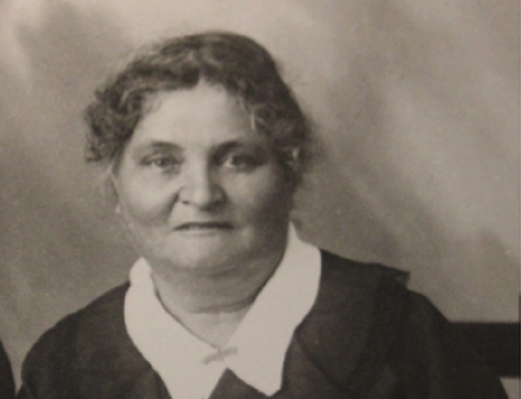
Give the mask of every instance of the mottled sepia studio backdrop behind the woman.
M 35 339 L 135 258 L 83 162 L 81 110 L 136 46 L 213 28 L 267 46 L 315 122 L 302 237 L 411 271 L 451 320 L 518 320 L 518 1 L 0 0 L 0 337 L 17 379 Z

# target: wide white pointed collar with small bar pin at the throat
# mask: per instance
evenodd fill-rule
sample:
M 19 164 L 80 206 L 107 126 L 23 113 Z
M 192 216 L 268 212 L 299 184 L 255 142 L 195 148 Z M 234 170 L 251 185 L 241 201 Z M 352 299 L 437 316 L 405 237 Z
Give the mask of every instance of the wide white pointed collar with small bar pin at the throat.
M 151 268 L 141 258 L 130 273 L 126 330 L 173 398 L 208 398 L 226 368 L 271 396 L 281 389 L 293 333 L 317 297 L 320 267 L 320 251 L 301 241 L 291 227 L 281 264 L 226 346 L 216 350 L 165 311 L 156 296 Z

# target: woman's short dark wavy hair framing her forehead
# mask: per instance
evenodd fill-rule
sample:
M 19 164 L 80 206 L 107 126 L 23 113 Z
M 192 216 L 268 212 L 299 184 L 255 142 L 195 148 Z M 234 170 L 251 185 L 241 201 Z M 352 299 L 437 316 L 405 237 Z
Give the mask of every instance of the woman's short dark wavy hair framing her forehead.
M 199 81 L 223 87 L 265 135 L 294 185 L 311 155 L 311 128 L 270 53 L 249 37 L 209 32 L 174 37 L 150 46 L 96 90 L 85 108 L 86 158 L 110 164 L 159 92 L 192 89 Z

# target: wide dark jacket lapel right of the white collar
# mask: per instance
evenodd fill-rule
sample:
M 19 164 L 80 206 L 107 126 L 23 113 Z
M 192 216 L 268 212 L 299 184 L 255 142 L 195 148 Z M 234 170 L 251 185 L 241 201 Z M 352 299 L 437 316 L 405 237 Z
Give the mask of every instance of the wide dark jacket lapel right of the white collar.
M 381 282 L 389 278 L 402 283 L 406 276 L 322 251 L 320 291 L 292 339 L 284 387 L 275 397 L 351 398 L 354 384 L 378 366 L 377 354 L 385 354 L 385 341 L 394 330 L 382 332 L 377 326 L 391 326 L 386 319 L 399 319 L 399 306 L 382 309 L 379 305 L 381 291 L 388 287 Z

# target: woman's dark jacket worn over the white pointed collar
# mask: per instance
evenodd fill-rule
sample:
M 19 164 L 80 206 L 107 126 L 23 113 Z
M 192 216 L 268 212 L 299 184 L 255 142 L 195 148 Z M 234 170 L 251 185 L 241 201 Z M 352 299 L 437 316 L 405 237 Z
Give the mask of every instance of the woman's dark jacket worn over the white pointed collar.
M 315 305 L 286 355 L 274 398 L 500 399 L 499 380 L 400 272 L 322 252 Z M 128 285 L 46 332 L 29 353 L 19 398 L 170 398 L 124 326 Z M 172 371 L 175 372 L 175 371 Z M 265 398 L 226 371 L 212 399 Z

